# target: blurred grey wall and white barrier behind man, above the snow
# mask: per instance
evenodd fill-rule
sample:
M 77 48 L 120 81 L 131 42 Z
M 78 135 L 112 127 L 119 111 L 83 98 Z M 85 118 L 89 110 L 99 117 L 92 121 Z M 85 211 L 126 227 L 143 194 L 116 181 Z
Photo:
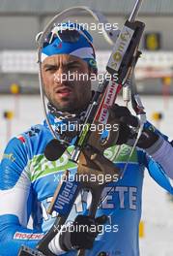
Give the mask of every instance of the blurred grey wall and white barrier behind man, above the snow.
M 38 92 L 35 37 L 52 16 L 72 6 L 86 5 L 101 11 L 108 22 L 118 23 L 121 28 L 133 3 L 134 0 L 1 0 L 0 92 L 9 92 L 12 83 L 19 84 L 22 93 Z M 138 90 L 143 94 L 161 94 L 164 83 L 172 84 L 171 80 L 165 80 L 173 74 L 172 14 L 172 0 L 143 1 L 138 18 L 146 23 L 146 28 L 141 42 L 143 55 L 136 69 Z M 95 22 L 85 14 L 70 19 Z M 111 47 L 101 33 L 92 34 L 100 71 L 104 71 Z M 169 89 L 173 93 L 172 86 Z

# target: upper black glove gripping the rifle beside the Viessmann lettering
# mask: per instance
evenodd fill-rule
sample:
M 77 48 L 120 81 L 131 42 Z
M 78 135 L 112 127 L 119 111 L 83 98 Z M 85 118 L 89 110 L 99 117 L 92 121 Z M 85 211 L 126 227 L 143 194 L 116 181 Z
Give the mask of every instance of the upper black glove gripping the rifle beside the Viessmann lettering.
M 119 124 L 119 137 L 116 144 L 126 144 L 132 136 L 130 126 L 138 127 L 139 125 L 137 117 L 132 115 L 127 107 L 117 104 L 109 108 L 109 116 Z

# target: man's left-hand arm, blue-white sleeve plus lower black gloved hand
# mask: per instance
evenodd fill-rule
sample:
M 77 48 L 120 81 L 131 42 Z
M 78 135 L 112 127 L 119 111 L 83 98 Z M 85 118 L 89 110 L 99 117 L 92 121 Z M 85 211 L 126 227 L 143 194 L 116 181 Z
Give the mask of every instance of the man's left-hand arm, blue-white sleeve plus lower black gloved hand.
M 24 140 L 24 138 L 20 138 Z M 27 144 L 14 138 L 7 146 L 0 165 L 0 255 L 16 256 L 21 245 L 35 248 L 43 232 L 27 228 L 34 193 L 30 181 L 29 150 Z M 34 212 L 37 214 L 37 212 Z M 104 220 L 105 221 L 105 220 Z M 103 221 L 103 222 L 104 222 Z M 80 223 L 79 223 L 80 222 Z M 102 217 L 77 216 L 72 225 L 100 225 Z M 47 244 L 50 255 L 62 255 L 73 248 L 92 247 L 98 232 L 58 233 Z M 52 253 L 51 253 L 52 252 Z

